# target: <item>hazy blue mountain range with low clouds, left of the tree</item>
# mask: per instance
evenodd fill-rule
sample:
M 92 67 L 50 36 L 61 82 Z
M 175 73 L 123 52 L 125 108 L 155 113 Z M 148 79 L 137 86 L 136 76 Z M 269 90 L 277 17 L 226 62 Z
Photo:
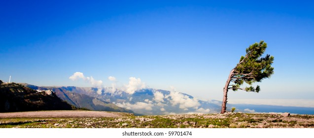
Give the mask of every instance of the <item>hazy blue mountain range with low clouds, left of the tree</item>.
M 56 92 L 57 96 L 76 107 L 85 107 L 91 110 L 99 110 L 95 103 L 113 103 L 120 108 L 144 114 L 176 114 L 176 113 L 217 113 L 220 105 L 206 101 L 200 101 L 194 97 L 178 92 L 170 92 L 157 89 L 141 89 L 134 94 L 124 91 L 110 93 L 105 89 L 99 94 L 98 88 L 82 87 L 37 87 L 27 85 L 36 89 L 50 89 Z M 120 110 L 121 111 L 121 110 Z

